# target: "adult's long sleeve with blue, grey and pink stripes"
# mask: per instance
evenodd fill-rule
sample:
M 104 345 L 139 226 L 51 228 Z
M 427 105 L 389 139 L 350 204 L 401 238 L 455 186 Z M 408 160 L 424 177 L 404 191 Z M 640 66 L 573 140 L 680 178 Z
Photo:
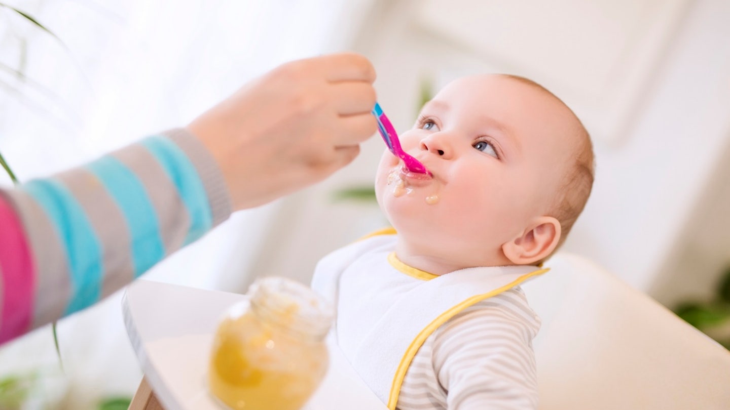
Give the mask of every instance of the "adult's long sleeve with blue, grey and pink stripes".
M 0 191 L 0 343 L 99 301 L 230 213 L 218 165 L 184 129 Z

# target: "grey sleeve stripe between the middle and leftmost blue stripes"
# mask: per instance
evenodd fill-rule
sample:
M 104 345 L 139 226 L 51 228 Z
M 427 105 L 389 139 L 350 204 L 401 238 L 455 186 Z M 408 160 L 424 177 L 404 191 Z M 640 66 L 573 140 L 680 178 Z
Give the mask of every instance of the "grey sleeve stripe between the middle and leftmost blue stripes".
M 129 229 L 119 206 L 91 171 L 72 169 L 55 179 L 68 189 L 83 209 L 102 248 L 101 298 L 134 279 Z

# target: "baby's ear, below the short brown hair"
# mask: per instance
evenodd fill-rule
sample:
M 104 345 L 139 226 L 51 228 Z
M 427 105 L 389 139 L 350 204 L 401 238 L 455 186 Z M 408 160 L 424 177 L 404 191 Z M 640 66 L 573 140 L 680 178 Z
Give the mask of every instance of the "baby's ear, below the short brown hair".
M 515 265 L 529 265 L 546 258 L 560 241 L 560 222 L 553 217 L 538 217 L 518 237 L 502 244 L 502 252 Z

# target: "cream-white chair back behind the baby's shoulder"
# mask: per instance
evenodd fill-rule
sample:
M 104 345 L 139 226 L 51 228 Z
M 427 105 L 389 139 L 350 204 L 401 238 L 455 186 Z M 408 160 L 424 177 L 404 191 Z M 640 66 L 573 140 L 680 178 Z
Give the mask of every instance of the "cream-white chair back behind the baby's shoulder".
M 730 409 L 730 352 L 609 272 L 562 253 L 523 285 L 541 410 Z

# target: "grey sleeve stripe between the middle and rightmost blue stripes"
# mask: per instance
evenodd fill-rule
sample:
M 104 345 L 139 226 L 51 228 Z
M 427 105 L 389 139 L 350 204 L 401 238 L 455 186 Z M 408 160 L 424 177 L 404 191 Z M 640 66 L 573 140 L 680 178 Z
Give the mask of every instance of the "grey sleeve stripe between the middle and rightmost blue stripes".
M 166 174 L 155 155 L 142 145 L 136 144 L 112 152 L 112 157 L 123 163 L 139 178 L 155 208 L 160 224 L 160 236 L 165 255 L 179 250 L 185 244 L 190 229 L 190 214 L 183 199 L 177 193 L 172 180 Z

